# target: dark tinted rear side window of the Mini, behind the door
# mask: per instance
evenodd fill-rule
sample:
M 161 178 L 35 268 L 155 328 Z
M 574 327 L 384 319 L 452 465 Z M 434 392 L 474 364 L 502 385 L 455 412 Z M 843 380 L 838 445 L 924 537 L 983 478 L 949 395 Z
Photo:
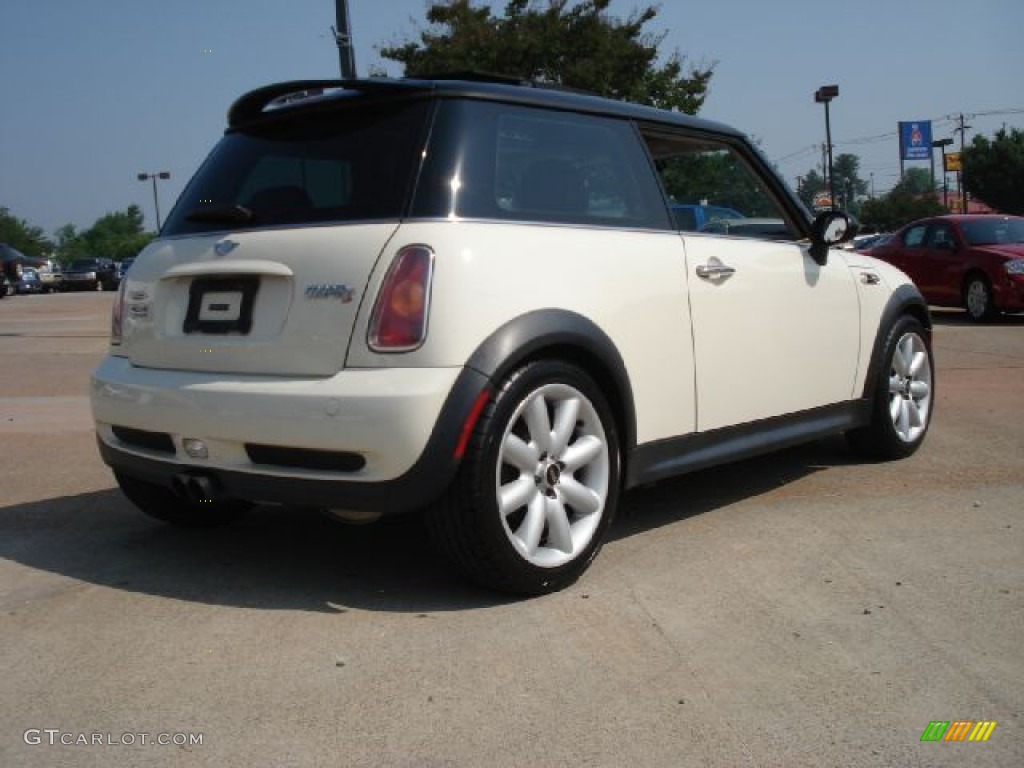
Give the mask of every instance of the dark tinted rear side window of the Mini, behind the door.
M 486 101 L 438 113 L 414 216 L 669 228 L 631 123 Z

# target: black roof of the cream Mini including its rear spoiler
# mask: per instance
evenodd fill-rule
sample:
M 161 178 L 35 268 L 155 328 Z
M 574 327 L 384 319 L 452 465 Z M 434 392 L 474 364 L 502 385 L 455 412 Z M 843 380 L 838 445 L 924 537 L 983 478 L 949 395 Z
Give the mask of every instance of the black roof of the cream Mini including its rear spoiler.
M 471 76 L 463 74 L 460 77 Z M 682 113 L 617 101 L 547 84 L 515 81 L 502 76 L 485 76 L 479 79 L 294 80 L 275 83 L 257 88 L 240 97 L 228 110 L 227 123 L 230 128 L 237 128 L 270 115 L 276 116 L 307 109 L 330 109 L 334 103 L 367 97 L 386 100 L 440 97 L 505 101 L 526 106 L 663 123 L 719 135 L 736 137 L 743 135 L 730 126 Z

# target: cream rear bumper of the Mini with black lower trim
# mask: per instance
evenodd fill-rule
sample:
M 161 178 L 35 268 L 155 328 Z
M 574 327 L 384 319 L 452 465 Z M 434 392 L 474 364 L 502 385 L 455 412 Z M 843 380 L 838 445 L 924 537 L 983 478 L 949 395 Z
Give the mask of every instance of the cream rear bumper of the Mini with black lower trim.
M 344 371 L 321 379 L 134 368 L 108 357 L 91 401 L 103 461 L 178 487 L 202 476 L 219 496 L 383 513 L 447 485 L 462 425 L 485 386 L 470 369 Z M 199 440 L 206 456 L 185 450 Z

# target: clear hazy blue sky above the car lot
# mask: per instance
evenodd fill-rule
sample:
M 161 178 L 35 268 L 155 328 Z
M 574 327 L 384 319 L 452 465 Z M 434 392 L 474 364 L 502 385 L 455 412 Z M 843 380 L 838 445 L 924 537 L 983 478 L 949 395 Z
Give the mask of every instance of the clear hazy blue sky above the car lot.
M 546 0 L 541 0 L 546 2 Z M 480 3 L 477 3 L 480 4 Z M 504 1 L 490 3 L 496 9 Z M 647 3 L 612 0 L 627 17 Z M 714 65 L 700 116 L 755 137 L 795 183 L 834 153 L 876 194 L 899 176 L 897 123 L 970 142 L 1024 128 L 1024 0 L 663 0 L 645 28 L 664 54 Z M 382 46 L 415 39 L 426 0 L 348 0 L 356 70 L 400 76 Z M 0 207 L 47 234 L 136 204 L 166 218 L 242 93 L 337 77 L 335 0 L 0 0 Z M 926 162 L 907 167 L 928 168 Z M 1024 183 L 1024 180 L 1022 180 Z

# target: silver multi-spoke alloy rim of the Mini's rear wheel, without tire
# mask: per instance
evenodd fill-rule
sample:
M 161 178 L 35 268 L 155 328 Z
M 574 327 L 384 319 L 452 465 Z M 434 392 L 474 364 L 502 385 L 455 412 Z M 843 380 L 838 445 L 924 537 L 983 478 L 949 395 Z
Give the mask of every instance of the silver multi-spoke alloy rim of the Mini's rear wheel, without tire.
M 498 454 L 498 510 L 516 552 L 557 567 L 594 538 L 608 497 L 609 452 L 593 403 L 546 384 L 519 403 Z

